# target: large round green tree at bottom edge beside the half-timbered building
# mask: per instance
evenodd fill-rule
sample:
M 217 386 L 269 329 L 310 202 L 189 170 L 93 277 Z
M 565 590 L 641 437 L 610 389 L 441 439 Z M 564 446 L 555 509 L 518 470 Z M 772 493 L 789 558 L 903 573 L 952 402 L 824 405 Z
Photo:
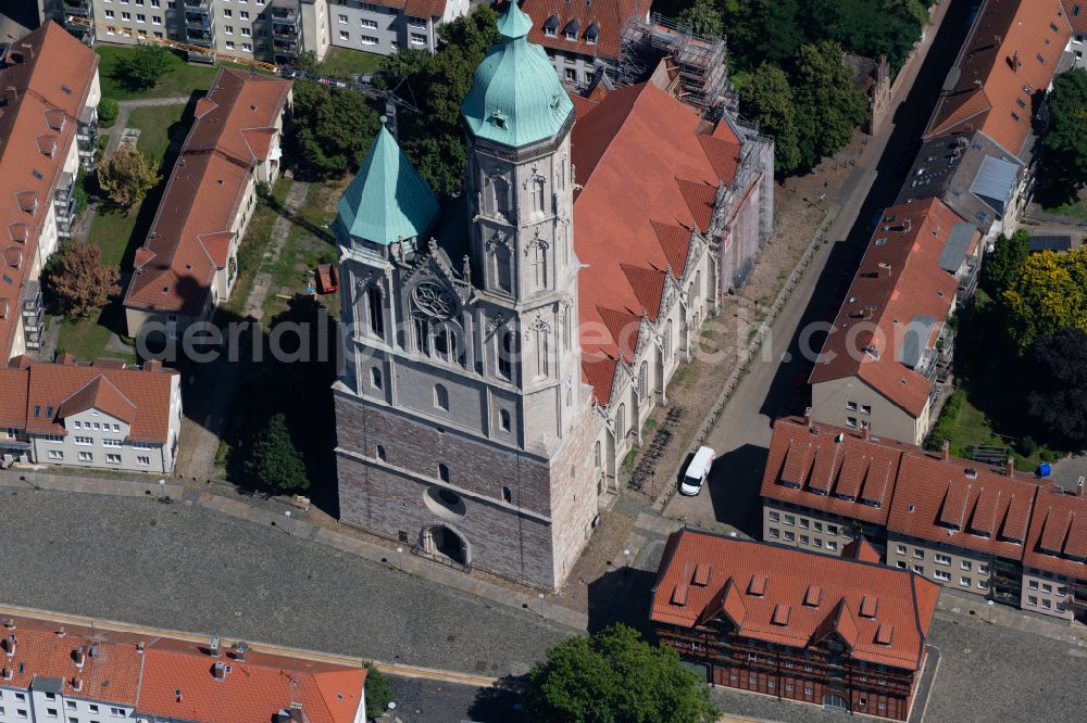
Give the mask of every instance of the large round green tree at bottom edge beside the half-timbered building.
M 675 650 L 612 625 L 547 651 L 528 674 L 525 709 L 546 723 L 700 723 L 720 715 Z

